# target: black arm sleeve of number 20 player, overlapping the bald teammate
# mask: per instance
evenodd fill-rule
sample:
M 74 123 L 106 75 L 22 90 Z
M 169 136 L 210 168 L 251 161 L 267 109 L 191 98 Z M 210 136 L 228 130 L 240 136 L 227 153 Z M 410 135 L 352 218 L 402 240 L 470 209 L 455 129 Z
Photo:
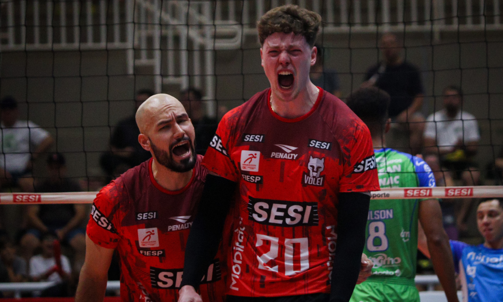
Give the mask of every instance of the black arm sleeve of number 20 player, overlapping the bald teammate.
M 185 247 L 182 283 L 199 287 L 222 238 L 225 217 L 230 208 L 236 183 L 208 174 L 203 195 Z

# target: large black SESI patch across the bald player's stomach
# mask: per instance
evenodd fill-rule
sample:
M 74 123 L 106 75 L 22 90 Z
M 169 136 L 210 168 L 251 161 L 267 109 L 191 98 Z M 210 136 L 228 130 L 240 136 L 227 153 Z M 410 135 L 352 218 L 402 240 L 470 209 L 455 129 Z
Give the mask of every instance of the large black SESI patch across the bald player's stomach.
M 150 267 L 150 284 L 153 288 L 163 289 L 179 289 L 182 283 L 183 268 L 176 269 L 163 269 L 157 267 Z M 211 283 L 218 281 L 222 278 L 222 271 L 220 270 L 220 261 L 218 259 L 208 266 L 206 274 L 201 281 L 201 284 Z

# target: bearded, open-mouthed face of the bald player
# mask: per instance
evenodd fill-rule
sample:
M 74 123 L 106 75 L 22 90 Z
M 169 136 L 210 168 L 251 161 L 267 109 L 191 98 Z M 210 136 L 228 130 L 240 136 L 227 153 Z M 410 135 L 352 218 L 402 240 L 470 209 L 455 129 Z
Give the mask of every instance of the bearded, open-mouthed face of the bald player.
M 160 108 L 158 122 L 148 135 L 152 153 L 164 167 L 187 172 L 196 164 L 194 126 L 180 103 Z

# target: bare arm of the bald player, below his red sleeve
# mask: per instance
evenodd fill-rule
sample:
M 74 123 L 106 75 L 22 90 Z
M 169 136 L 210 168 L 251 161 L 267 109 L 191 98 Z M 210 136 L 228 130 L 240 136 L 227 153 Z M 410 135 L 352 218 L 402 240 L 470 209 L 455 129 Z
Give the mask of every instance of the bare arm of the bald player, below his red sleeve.
M 114 249 L 101 247 L 86 235 L 86 259 L 80 270 L 75 302 L 103 301 L 113 253 Z

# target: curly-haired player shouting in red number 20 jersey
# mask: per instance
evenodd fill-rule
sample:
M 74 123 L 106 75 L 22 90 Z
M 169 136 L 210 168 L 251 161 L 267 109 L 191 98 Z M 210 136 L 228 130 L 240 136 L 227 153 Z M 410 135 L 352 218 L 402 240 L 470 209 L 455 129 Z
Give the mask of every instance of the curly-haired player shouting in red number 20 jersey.
M 368 128 L 309 80 L 320 22 L 291 5 L 259 21 L 271 88 L 228 112 L 206 152 L 211 174 L 187 243 L 179 302 L 200 301 L 195 289 L 236 190 L 227 301 L 350 299 L 369 191 L 379 183 Z

